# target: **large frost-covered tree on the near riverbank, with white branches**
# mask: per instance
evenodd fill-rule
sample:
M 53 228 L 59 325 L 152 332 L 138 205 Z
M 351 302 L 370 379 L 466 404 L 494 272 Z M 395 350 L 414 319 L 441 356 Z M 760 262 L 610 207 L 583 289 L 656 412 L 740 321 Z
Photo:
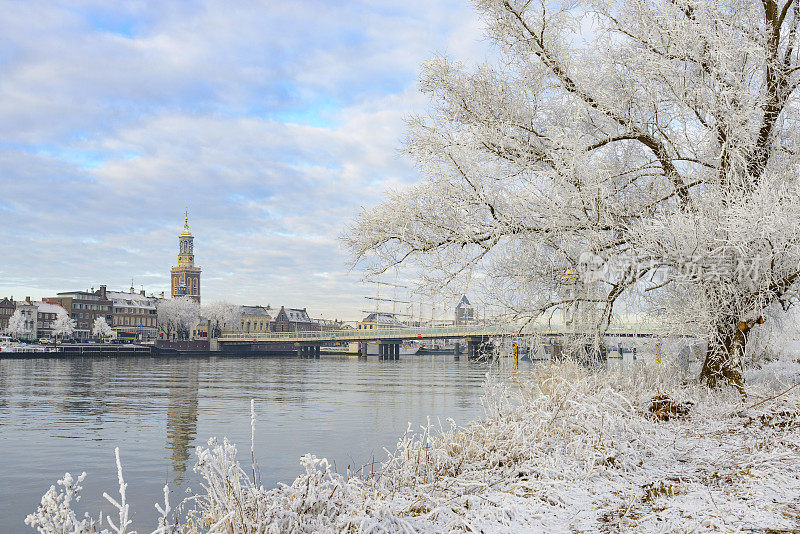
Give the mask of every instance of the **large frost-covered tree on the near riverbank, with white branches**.
M 364 211 L 369 272 L 479 274 L 519 315 L 630 295 L 741 384 L 751 329 L 800 276 L 800 0 L 476 0 L 498 59 L 423 67 L 426 180 Z M 565 292 L 599 259 L 596 291 Z M 585 269 L 584 269 L 585 271 Z

